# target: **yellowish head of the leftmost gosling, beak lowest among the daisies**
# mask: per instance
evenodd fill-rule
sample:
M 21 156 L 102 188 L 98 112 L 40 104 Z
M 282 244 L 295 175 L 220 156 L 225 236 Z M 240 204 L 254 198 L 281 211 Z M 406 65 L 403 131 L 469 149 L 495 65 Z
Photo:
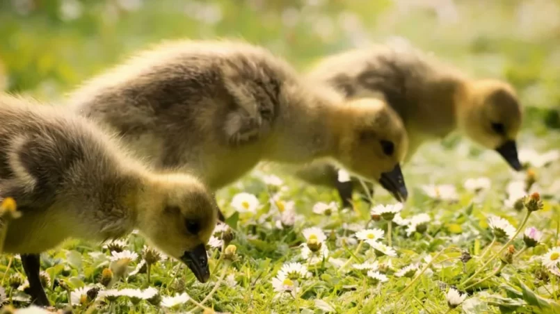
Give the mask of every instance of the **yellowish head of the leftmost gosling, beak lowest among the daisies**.
M 210 271 L 205 245 L 218 211 L 210 192 L 192 176 L 180 174 L 156 176 L 141 190 L 139 231 L 206 282 Z

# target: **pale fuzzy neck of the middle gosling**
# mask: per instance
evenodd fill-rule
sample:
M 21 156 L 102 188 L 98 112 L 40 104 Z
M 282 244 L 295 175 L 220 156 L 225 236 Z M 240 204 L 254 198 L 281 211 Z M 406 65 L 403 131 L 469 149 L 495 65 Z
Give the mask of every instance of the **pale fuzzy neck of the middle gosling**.
M 266 145 L 265 159 L 310 163 L 335 156 L 338 138 L 333 120 L 340 110 L 339 104 L 335 104 L 338 99 L 330 91 L 321 93 L 312 86 L 287 90 L 285 104 L 280 106 L 273 135 Z

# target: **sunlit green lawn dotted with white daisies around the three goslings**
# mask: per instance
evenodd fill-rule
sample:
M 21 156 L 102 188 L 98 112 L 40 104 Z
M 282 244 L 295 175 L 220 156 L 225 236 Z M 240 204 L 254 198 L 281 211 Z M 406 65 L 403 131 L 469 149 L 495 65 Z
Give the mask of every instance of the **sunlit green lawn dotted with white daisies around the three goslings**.
M 380 187 L 372 205 L 355 195 L 354 208 L 339 208 L 334 190 L 262 164 L 218 192 L 229 226 L 209 243 L 209 282 L 136 233 L 68 240 L 42 254 L 51 303 L 75 313 L 560 313 L 560 1 L 411 3 L 0 3 L 0 88 L 45 101 L 162 39 L 245 38 L 304 70 L 399 35 L 509 81 L 525 107 L 522 172 L 454 134 L 403 167 L 402 208 Z M 0 276 L 0 301 L 29 306 L 18 256 L 0 256 Z

